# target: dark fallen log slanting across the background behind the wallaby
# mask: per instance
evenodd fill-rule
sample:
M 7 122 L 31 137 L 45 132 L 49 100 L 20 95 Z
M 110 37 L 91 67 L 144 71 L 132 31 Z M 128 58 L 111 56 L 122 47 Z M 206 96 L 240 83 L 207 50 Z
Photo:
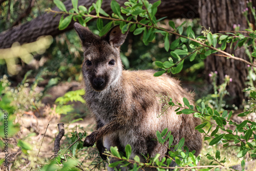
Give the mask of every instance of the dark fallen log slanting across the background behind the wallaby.
M 151 0 L 150 3 L 154 3 L 157 0 Z M 89 7 L 95 0 L 80 0 L 79 5 Z M 117 1 L 120 5 L 123 5 L 124 1 Z M 104 0 L 102 3 L 102 9 L 107 13 L 112 13 L 110 8 L 111 0 Z M 67 10 L 73 8 L 70 0 L 65 3 Z M 54 10 L 57 10 L 55 7 Z M 163 0 L 158 8 L 157 17 L 168 18 L 194 18 L 199 17 L 198 14 L 198 0 Z M 33 42 L 39 36 L 42 35 L 52 35 L 53 37 L 73 29 L 73 22 L 65 30 L 58 30 L 59 19 L 61 15 L 53 13 L 45 13 L 30 22 L 23 25 L 10 28 L 9 30 L 2 32 L 0 34 L 0 49 L 10 48 L 13 42 L 18 41 L 19 44 L 24 44 L 25 42 Z

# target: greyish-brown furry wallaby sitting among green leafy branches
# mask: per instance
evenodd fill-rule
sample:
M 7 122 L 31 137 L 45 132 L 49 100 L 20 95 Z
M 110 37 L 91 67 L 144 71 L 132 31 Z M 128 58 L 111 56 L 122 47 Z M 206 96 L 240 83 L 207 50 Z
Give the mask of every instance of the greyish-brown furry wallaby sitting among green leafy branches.
M 82 74 L 86 95 L 84 99 L 97 122 L 97 130 L 84 140 L 84 146 L 96 142 L 100 156 L 111 146 L 117 146 L 124 152 L 124 147 L 132 147 L 131 159 L 135 155 L 145 161 L 142 155 L 160 158 L 168 155 L 168 142 L 161 145 L 156 141 L 156 132 L 166 127 L 174 136 L 173 145 L 182 137 L 189 151 L 195 149 L 198 156 L 202 146 L 201 134 L 195 130 L 200 119 L 193 115 L 177 115 L 173 106 L 167 113 L 158 117 L 162 105 L 160 97 L 168 95 L 173 102 L 183 104 L 186 97 L 193 104 L 193 93 L 181 88 L 178 80 L 167 74 L 154 77 L 155 71 L 125 71 L 120 59 L 120 46 L 127 32 L 122 34 L 119 26 L 113 27 L 104 36 L 94 35 L 88 28 L 74 24 L 84 49 Z M 176 163 L 171 164 L 175 166 Z M 125 170 L 124 167 L 120 167 Z M 108 170 L 114 170 L 109 168 Z M 155 170 L 149 167 L 144 170 Z

